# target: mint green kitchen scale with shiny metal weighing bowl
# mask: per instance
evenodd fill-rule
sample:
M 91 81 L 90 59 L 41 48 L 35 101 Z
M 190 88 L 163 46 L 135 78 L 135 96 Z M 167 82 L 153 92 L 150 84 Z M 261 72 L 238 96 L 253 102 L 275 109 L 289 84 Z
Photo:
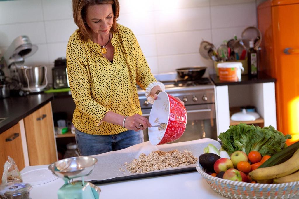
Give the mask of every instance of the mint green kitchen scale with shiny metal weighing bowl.
M 51 164 L 49 170 L 64 180 L 64 185 L 57 192 L 58 199 L 98 199 L 101 189 L 84 181 L 84 176 L 91 174 L 96 163 L 97 159 L 94 157 L 80 156 Z M 74 181 L 77 177 L 81 177 L 82 180 Z

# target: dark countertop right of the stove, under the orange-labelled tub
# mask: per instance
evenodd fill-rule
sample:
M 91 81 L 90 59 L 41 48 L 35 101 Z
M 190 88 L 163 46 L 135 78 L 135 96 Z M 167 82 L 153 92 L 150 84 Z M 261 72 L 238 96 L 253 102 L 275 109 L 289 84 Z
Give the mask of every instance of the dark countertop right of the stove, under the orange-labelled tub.
M 219 77 L 216 76 L 216 74 L 210 75 L 210 79 L 213 81 L 213 83 L 216 86 L 276 82 L 276 79 L 274 79 L 262 72 L 259 72 L 258 76 L 255 78 L 250 78 L 248 75 L 242 75 L 241 81 L 239 81 L 239 82 L 226 82 L 226 81 L 220 80 Z

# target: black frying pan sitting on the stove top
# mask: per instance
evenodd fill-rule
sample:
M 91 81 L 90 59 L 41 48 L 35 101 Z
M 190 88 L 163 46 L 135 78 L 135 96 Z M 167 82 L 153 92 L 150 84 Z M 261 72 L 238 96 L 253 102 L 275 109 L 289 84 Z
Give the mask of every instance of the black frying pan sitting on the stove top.
M 187 67 L 187 68 L 178 68 L 176 72 L 178 75 L 186 81 L 194 81 L 202 78 L 205 74 L 207 67 L 205 66 L 196 66 L 196 67 Z

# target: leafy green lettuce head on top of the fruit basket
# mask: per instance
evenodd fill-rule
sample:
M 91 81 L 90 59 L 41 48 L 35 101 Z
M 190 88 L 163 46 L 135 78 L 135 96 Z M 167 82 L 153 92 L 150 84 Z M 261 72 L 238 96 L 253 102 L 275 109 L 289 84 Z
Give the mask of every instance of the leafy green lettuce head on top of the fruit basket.
M 283 135 L 273 126 L 258 127 L 240 123 L 230 126 L 220 133 L 218 138 L 222 141 L 222 148 L 229 154 L 234 151 L 243 151 L 247 155 L 250 151 L 259 151 L 260 154 L 273 155 L 285 147 L 286 139 L 291 135 Z

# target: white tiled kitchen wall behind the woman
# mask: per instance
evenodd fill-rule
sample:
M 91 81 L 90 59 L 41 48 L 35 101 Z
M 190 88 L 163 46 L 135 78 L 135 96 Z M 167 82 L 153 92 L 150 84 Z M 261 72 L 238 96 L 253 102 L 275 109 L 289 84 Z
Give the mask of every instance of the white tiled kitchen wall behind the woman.
M 256 26 L 256 6 L 264 0 L 119 0 L 118 23 L 135 33 L 152 73 L 213 62 L 199 55 L 202 39 L 219 46 Z M 17 36 L 28 35 L 39 50 L 27 65 L 46 65 L 52 81 L 54 60 L 65 56 L 69 37 L 77 29 L 71 0 L 0 1 L 0 49 Z

